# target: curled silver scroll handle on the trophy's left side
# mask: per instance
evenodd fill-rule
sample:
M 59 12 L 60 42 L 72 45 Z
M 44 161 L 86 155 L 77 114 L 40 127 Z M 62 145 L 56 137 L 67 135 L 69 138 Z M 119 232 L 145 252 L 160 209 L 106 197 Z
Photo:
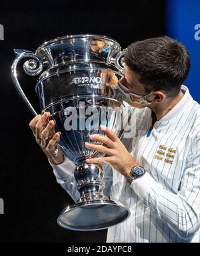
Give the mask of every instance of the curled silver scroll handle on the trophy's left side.
M 23 99 L 23 101 L 25 102 L 27 107 L 29 108 L 29 110 L 31 110 L 33 115 L 36 116 L 37 112 L 35 111 L 35 109 L 31 105 L 31 103 L 27 99 L 27 96 L 25 96 L 25 93 L 23 92 L 23 90 L 19 84 L 19 81 L 17 79 L 17 64 L 24 57 L 31 57 L 31 59 L 25 61 L 25 63 L 23 64 L 23 70 L 29 76 L 37 76 L 43 70 L 42 60 L 39 59 L 39 57 L 37 57 L 35 55 L 35 53 L 33 53 L 33 51 L 27 51 L 24 49 L 14 49 L 14 51 L 17 56 L 15 57 L 15 59 L 13 61 L 12 68 L 11 68 L 11 77 L 13 80 L 13 84 L 14 84 L 15 88 L 17 89 L 17 92 L 19 93 L 19 95 L 21 96 L 21 98 Z

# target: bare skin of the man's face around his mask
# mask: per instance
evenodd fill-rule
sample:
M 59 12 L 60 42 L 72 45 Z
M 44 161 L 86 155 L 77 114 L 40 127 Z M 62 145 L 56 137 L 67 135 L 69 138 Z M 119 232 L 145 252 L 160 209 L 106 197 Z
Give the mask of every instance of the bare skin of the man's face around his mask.
M 135 93 L 135 94 L 139 94 L 141 96 L 145 96 L 147 95 L 147 92 L 145 91 L 145 87 L 143 86 L 143 84 L 141 84 L 141 82 L 139 82 L 140 79 L 140 75 L 136 72 L 133 72 L 132 70 L 130 70 L 126 65 L 124 67 L 124 76 L 123 78 L 121 78 L 121 80 L 119 80 L 120 84 L 122 84 L 123 86 L 125 86 L 127 89 L 129 89 L 131 92 Z M 137 108 L 144 108 L 145 104 L 141 105 L 141 104 L 137 104 L 137 97 L 133 96 L 133 100 L 135 100 L 135 102 L 129 102 L 129 104 L 131 106 L 135 106 Z M 149 96 L 151 98 L 151 96 Z

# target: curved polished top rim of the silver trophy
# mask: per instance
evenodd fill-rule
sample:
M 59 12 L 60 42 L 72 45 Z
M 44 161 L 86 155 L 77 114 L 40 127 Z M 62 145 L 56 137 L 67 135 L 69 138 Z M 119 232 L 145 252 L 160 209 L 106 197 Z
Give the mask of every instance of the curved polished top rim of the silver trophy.
M 117 47 L 119 48 L 119 50 L 121 50 L 121 45 L 112 37 L 107 37 L 107 35 L 96 35 L 96 34 L 77 34 L 77 35 L 64 35 L 62 37 L 55 37 L 54 39 L 51 39 L 49 41 L 45 41 L 45 43 L 39 45 L 39 47 L 36 50 L 36 53 L 39 53 L 39 51 L 41 51 L 41 49 L 47 45 L 51 45 L 52 43 L 57 43 L 59 41 L 65 40 L 65 39 L 73 39 L 73 38 L 95 38 L 95 39 L 105 39 L 108 41 L 112 41 L 113 43 L 115 43 L 117 45 Z

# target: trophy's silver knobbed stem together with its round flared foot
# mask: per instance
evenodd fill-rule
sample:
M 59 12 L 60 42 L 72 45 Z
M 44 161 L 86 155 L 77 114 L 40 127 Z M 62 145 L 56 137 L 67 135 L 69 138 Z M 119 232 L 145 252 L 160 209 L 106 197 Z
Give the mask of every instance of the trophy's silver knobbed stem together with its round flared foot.
M 85 158 L 76 163 L 74 175 L 81 197 L 61 212 L 57 223 L 65 229 L 95 231 L 125 221 L 130 215 L 129 209 L 103 195 L 102 166 L 86 164 Z

